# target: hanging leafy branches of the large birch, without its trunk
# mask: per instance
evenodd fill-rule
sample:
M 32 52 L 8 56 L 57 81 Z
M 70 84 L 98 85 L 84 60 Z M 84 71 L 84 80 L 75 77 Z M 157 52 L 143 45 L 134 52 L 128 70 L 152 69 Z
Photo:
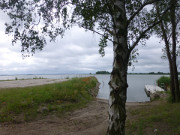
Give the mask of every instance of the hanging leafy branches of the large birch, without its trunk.
M 154 0 L 125 1 L 127 29 L 127 46 L 130 49 L 130 60 L 136 61 L 138 50 L 134 49 L 139 42 L 145 45 L 145 40 L 152 33 L 151 28 L 156 23 L 153 8 L 147 5 Z M 21 42 L 22 52 L 35 53 L 42 50 L 47 37 L 55 41 L 58 35 L 63 36 L 66 29 L 78 25 L 101 36 L 99 52 L 105 55 L 107 41 L 115 43 L 113 36 L 119 38 L 116 29 L 114 1 L 106 0 L 7 0 L 0 1 L 0 9 L 6 12 L 11 23 L 6 23 L 6 34 L 12 34 L 13 43 Z M 139 10 L 140 9 L 140 10 Z M 130 62 L 129 65 L 132 63 Z

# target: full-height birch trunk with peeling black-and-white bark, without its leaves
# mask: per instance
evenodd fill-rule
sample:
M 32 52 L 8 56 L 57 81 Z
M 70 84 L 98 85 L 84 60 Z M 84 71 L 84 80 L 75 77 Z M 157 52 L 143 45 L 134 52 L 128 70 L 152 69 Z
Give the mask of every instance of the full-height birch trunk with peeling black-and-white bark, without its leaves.
M 114 15 L 114 62 L 111 73 L 109 97 L 108 135 L 125 135 L 127 69 L 129 50 L 127 46 L 126 12 L 123 0 L 116 0 L 113 5 Z

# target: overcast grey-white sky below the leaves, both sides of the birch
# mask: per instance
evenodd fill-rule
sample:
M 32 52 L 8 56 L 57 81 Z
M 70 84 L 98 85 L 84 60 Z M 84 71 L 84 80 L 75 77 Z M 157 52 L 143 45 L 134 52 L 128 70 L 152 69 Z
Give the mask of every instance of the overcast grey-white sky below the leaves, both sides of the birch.
M 0 12 L 0 75 L 4 74 L 61 74 L 95 73 L 112 70 L 113 49 L 109 43 L 106 55 L 98 53 L 99 36 L 74 27 L 63 39 L 48 43 L 42 51 L 23 58 L 21 46 L 12 46 L 11 37 L 5 35 L 7 16 Z M 152 36 L 145 47 L 139 46 L 138 63 L 129 72 L 169 72 L 167 60 L 161 59 L 162 47 L 159 39 Z

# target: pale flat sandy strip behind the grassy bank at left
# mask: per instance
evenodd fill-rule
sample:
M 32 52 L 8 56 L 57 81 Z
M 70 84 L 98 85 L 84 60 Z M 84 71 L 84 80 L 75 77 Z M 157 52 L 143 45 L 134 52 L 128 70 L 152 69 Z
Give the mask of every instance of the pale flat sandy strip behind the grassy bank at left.
M 29 79 L 29 80 L 0 81 L 0 89 L 36 86 L 36 85 L 63 82 L 66 80 L 67 79 Z

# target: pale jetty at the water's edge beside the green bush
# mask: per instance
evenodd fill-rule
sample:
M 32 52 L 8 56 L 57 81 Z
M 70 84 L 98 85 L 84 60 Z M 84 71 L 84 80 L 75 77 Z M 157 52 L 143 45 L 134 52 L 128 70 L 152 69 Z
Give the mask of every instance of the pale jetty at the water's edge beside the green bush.
M 150 100 L 159 98 L 160 94 L 158 94 L 158 93 L 165 91 L 164 89 L 162 89 L 161 87 L 156 86 L 156 85 L 145 85 L 144 90 L 145 90 L 147 96 L 150 97 Z

